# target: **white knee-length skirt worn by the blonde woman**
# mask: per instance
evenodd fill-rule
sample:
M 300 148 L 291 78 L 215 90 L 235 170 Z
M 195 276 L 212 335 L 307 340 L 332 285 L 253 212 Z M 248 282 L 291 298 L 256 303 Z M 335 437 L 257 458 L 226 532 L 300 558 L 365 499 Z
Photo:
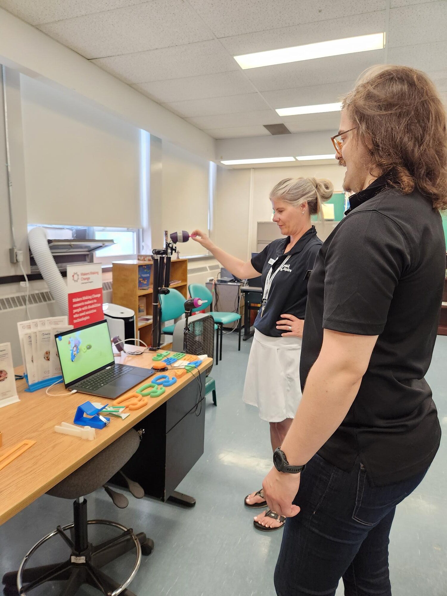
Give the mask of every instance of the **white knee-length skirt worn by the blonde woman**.
M 254 330 L 243 401 L 267 422 L 294 418 L 302 393 L 300 337 L 268 337 Z

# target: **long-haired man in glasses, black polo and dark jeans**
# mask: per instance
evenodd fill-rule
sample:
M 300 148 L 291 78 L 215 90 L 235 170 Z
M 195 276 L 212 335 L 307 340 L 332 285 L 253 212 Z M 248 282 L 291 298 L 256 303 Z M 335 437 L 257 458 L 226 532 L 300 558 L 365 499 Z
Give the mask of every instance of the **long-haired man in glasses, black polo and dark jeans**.
M 374 67 L 344 98 L 332 140 L 356 194 L 309 278 L 303 397 L 263 482 L 288 518 L 275 588 L 334 596 L 343 578 L 346 596 L 390 596 L 396 505 L 440 442 L 424 375 L 446 266 L 445 109 L 424 73 Z

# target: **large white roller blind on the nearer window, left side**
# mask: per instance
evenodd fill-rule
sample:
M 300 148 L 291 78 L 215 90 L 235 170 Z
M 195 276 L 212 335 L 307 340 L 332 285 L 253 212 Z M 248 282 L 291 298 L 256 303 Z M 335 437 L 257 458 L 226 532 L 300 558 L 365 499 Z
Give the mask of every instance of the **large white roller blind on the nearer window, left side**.
M 138 228 L 140 131 L 21 75 L 30 224 Z

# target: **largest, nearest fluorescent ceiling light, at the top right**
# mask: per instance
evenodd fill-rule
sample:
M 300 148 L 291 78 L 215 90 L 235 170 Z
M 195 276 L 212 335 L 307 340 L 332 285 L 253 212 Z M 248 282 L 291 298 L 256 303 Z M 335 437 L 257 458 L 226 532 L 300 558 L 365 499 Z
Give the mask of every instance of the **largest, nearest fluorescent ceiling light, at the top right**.
M 272 64 L 285 64 L 299 62 L 300 60 L 313 60 L 327 56 L 340 56 L 342 54 L 355 54 L 368 52 L 371 49 L 383 49 L 385 46 L 385 33 L 372 33 L 359 35 L 353 38 L 332 39 L 318 44 L 297 45 L 294 48 L 271 49 L 266 52 L 243 54 L 234 56 L 241 69 L 256 69 L 259 66 Z

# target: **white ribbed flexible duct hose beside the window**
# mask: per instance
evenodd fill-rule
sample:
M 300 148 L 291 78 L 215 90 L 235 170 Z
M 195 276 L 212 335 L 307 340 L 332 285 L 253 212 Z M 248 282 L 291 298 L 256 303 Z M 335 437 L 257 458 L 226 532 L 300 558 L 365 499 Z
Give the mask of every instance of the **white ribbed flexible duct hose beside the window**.
M 67 316 L 69 313 L 67 285 L 49 250 L 44 228 L 30 229 L 28 240 L 36 265 L 46 281 L 52 297 L 59 305 L 62 314 Z

